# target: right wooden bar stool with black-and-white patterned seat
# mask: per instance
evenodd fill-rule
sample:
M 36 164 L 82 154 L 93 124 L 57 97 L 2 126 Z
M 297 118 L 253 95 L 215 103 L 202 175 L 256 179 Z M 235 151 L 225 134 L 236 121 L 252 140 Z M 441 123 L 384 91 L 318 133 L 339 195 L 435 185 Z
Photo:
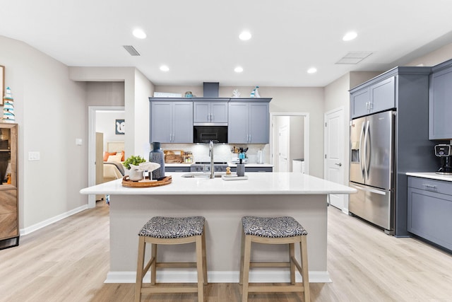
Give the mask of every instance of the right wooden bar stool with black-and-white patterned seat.
M 249 292 L 304 292 L 309 298 L 307 231 L 293 217 L 242 217 L 242 253 L 239 284 L 243 284 L 242 302 L 248 301 Z M 251 243 L 289 244 L 287 262 L 251 262 Z M 295 259 L 295 243 L 300 245 L 302 263 Z M 290 267 L 290 285 L 249 285 L 250 267 Z M 295 267 L 302 275 L 302 284 L 295 284 Z

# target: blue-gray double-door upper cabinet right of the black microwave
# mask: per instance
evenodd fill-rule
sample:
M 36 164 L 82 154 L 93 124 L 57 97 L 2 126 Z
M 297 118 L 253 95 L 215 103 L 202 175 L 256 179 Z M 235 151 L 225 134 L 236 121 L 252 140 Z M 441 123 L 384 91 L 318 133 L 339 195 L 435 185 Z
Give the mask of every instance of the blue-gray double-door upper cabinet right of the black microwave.
M 268 144 L 270 98 L 230 100 L 227 141 L 230 144 Z

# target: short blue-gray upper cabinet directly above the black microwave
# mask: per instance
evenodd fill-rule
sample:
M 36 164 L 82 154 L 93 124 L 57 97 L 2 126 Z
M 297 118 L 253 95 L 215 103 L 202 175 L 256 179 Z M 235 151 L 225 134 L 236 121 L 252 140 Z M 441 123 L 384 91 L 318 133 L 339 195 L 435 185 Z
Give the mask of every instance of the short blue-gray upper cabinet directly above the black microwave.
M 229 99 L 227 99 L 229 100 Z M 227 125 L 227 100 L 194 100 L 195 125 Z

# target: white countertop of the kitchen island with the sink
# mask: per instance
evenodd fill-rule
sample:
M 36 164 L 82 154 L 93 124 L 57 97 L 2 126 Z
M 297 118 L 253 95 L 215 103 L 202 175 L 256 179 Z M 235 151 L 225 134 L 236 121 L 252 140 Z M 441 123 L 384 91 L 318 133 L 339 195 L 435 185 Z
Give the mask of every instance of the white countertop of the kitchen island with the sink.
M 160 187 L 123 187 L 112 180 L 82 189 L 81 194 L 351 194 L 357 190 L 302 173 L 246 173 L 248 180 L 182 178 L 185 173 L 165 173 L 172 183 Z

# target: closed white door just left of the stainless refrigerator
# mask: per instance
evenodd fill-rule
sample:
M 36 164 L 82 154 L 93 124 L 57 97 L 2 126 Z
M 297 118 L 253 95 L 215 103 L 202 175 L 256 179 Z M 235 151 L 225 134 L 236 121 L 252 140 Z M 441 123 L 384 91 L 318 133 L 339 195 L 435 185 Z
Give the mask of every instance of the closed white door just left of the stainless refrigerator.
M 344 113 L 343 108 L 326 112 L 325 114 L 325 162 L 324 178 L 344 185 Z M 343 194 L 330 194 L 331 205 L 342 211 L 345 209 L 345 196 Z

